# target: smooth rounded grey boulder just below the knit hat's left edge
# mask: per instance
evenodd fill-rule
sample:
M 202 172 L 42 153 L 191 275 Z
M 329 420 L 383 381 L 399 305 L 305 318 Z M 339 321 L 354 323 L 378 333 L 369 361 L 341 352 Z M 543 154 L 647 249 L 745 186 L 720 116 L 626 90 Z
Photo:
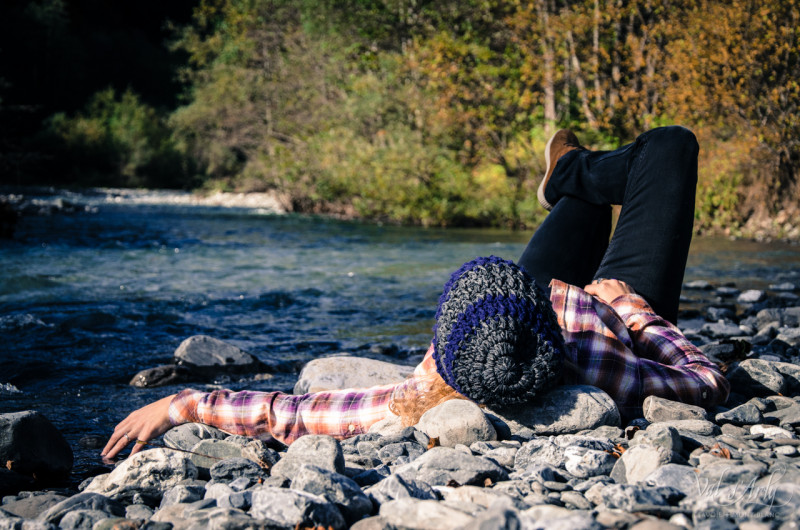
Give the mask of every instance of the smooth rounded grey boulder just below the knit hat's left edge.
M 445 447 L 497 439 L 497 431 L 483 410 L 466 399 L 451 399 L 433 407 L 422 415 L 416 427 L 431 438 L 438 438 L 439 445 Z

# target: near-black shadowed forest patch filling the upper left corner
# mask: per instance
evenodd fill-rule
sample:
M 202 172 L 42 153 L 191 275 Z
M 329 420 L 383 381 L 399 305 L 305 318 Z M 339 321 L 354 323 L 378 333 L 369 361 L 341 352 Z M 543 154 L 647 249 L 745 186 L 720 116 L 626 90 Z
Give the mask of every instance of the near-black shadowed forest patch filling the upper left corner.
M 60 159 L 42 138 L 43 122 L 83 108 L 98 91 L 130 89 L 155 108 L 174 108 L 182 92 L 175 72 L 186 57 L 166 43 L 196 3 L 1 2 L 0 182 L 49 180 Z

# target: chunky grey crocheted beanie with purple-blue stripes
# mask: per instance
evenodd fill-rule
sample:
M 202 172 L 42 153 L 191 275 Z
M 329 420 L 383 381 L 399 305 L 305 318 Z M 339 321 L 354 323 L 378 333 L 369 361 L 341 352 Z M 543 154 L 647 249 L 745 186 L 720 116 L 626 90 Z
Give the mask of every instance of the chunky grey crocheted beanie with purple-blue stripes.
M 475 402 L 524 403 L 561 376 L 564 339 L 550 300 L 511 261 L 476 258 L 454 272 L 433 331 L 436 371 Z

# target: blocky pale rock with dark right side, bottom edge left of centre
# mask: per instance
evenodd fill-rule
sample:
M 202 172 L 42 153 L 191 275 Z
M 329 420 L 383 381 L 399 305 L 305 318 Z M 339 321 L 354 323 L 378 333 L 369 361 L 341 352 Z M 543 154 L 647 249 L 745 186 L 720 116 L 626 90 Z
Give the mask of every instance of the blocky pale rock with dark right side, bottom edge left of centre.
M 336 505 L 304 491 L 260 486 L 253 490 L 252 503 L 250 515 L 268 525 L 346 528 Z

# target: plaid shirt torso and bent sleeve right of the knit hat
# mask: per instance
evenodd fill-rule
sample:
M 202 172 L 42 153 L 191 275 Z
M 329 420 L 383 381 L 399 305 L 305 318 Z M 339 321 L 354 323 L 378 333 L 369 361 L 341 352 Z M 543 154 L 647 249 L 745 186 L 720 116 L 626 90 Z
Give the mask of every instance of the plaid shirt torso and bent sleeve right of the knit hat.
M 727 399 L 717 366 L 641 296 L 608 305 L 558 280 L 550 287 L 567 345 L 566 383 L 603 389 L 628 415 L 641 414 L 651 395 L 703 407 Z

